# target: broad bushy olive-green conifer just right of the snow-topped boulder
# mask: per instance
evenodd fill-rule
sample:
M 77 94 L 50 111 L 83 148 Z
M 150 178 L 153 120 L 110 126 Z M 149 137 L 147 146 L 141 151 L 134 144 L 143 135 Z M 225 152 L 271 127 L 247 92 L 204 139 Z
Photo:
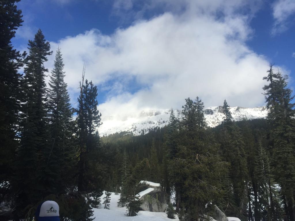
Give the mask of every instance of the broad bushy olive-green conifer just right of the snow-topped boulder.
M 218 199 L 221 184 L 217 177 L 224 173 L 225 166 L 219 162 L 213 135 L 198 127 L 196 105 L 189 98 L 182 113 L 177 153 L 171 160 L 171 180 L 176 185 L 177 204 L 182 202 L 186 208 L 186 218 L 198 220 L 206 203 Z

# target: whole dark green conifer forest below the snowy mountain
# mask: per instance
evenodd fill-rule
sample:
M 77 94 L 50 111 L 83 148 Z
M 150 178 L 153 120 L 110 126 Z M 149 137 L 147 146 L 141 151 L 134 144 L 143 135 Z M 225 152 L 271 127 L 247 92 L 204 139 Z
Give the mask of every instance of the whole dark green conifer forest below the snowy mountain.
M 19 1 L 0 0 L 0 220 L 31 221 L 40 202 L 54 200 L 60 220 L 91 221 L 93 208 L 110 209 L 111 193 L 120 194 L 127 217 L 136 216 L 143 180 L 160 184 L 171 219 L 208 220 L 218 207 L 242 221 L 295 221 L 295 104 L 287 75 L 272 64 L 265 70 L 266 118 L 235 121 L 224 97 L 223 121 L 212 128 L 206 100 L 184 94 L 180 115 L 171 108 L 166 126 L 101 136 L 98 85 L 87 68 L 76 79 L 73 105 L 63 48 L 52 48 L 42 27 L 25 52 L 15 49 L 11 40 L 24 22 Z

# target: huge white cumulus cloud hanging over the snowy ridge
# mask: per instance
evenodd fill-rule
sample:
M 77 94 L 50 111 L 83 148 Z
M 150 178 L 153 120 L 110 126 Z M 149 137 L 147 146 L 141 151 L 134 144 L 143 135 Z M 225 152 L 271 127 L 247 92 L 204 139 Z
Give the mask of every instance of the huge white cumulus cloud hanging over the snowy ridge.
M 61 47 L 72 96 L 85 62 L 86 78 L 108 91 L 99 105 L 102 120 L 180 108 L 184 98 L 196 96 L 205 106 L 222 105 L 225 98 L 231 106 L 263 105 L 262 77 L 269 61 L 245 44 L 252 33 L 248 17 L 186 12 L 138 20 L 112 35 L 92 29 L 51 42 L 53 49 Z M 130 90 L 130 81 L 139 89 Z

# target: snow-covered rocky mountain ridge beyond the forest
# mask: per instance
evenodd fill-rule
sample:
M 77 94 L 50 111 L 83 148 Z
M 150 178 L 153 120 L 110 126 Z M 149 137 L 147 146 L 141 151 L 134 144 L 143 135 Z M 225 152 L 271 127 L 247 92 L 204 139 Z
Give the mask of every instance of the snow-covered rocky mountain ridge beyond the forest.
M 265 118 L 267 110 L 265 106 L 255 108 L 231 107 L 230 112 L 235 121 L 243 118 Z M 175 110 L 175 115 L 181 118 L 181 111 Z M 103 124 L 99 127 L 100 136 L 109 135 L 116 132 L 127 131 L 134 135 L 147 133 L 149 129 L 155 127 L 163 127 L 168 124 L 170 116 L 169 109 L 144 110 L 138 114 L 124 117 L 123 120 L 114 118 L 113 116 L 105 116 L 102 118 Z M 204 116 L 210 127 L 219 125 L 224 117 L 222 106 L 208 107 L 204 110 Z

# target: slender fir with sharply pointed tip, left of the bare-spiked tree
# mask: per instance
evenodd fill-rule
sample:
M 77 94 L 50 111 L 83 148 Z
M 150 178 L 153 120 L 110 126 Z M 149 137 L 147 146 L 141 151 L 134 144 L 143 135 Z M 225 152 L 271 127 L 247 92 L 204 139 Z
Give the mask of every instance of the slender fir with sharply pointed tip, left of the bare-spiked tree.
M 55 193 L 63 193 L 66 184 L 70 183 L 69 167 L 73 163 L 72 111 L 67 84 L 64 82 L 63 58 L 60 48 L 55 54 L 54 68 L 51 71 L 48 89 L 50 154 L 47 170 L 51 172 L 51 178 L 55 180 Z M 67 182 L 68 181 L 68 182 Z

